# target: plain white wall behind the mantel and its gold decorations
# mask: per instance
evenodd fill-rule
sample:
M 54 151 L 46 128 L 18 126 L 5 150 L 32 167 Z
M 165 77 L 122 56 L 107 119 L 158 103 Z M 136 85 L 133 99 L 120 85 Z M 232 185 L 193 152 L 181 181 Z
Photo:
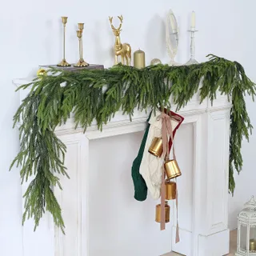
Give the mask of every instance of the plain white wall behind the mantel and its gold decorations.
M 180 28 L 178 61 L 189 58 L 190 11 L 197 14 L 196 58 L 205 61 L 206 54 L 218 54 L 237 60 L 247 74 L 256 81 L 254 58 L 256 33 L 254 33 L 254 0 L 215 1 L 166 1 L 130 0 L 128 4 L 112 1 L 81 0 L 32 0 L 4 2 L 0 10 L 0 255 L 19 256 L 22 251 L 21 188 L 18 171 L 8 172 L 11 160 L 18 152 L 18 134 L 11 130 L 12 116 L 18 106 L 18 94 L 14 93 L 13 78 L 34 75 L 39 64 L 54 64 L 62 58 L 62 25 L 60 17 L 67 15 L 67 50 L 69 62 L 78 60 L 77 22 L 85 22 L 84 54 L 87 62 L 111 66 L 111 46 L 114 36 L 108 22 L 109 15 L 123 14 L 122 42 L 129 42 L 133 50 L 146 51 L 146 62 L 161 58 L 167 62 L 164 42 L 164 17 L 174 10 Z M 247 107 L 251 121 L 256 126 L 253 103 Z M 236 226 L 236 214 L 242 203 L 256 194 L 254 181 L 254 144 L 244 143 L 244 170 L 236 178 L 237 189 L 230 198 L 230 227 Z

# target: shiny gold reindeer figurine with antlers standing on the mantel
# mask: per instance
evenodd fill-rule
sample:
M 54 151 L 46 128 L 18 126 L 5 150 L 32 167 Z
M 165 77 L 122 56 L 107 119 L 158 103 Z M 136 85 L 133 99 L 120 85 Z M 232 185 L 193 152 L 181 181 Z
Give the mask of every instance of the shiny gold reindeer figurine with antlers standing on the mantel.
M 119 20 L 120 20 L 120 25 L 118 26 L 118 28 L 116 29 L 113 24 L 113 17 L 109 17 L 110 20 L 110 25 L 111 28 L 114 32 L 115 35 L 115 42 L 114 42 L 114 64 L 118 64 L 118 56 L 121 56 L 121 60 L 122 60 L 122 64 L 124 64 L 124 60 L 126 59 L 126 65 L 130 66 L 130 61 L 131 61 L 131 48 L 130 48 L 130 44 L 128 43 L 121 43 L 121 39 L 120 39 L 120 32 L 121 27 L 122 27 L 122 20 L 123 17 L 118 16 Z

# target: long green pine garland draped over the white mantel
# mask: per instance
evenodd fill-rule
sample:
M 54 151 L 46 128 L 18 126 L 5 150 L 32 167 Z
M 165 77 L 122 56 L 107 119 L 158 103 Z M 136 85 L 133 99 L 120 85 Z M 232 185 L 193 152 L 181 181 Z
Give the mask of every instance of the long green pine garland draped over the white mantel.
M 34 218 L 34 229 L 42 214 L 48 210 L 54 223 L 64 232 L 62 209 L 54 196 L 54 186 L 61 187 L 58 174 L 66 175 L 64 156 L 66 146 L 54 134 L 56 126 L 65 123 L 74 113 L 76 127 L 86 127 L 96 119 L 98 129 L 122 110 L 134 114 L 134 109 L 170 109 L 170 95 L 177 110 L 186 106 L 200 90 L 201 102 L 214 101 L 217 90 L 226 94 L 233 106 L 230 111 L 230 192 L 234 192 L 234 170 L 242 170 L 242 138 L 249 139 L 252 130 L 246 111 L 245 94 L 253 99 L 255 84 L 247 78 L 238 62 L 209 55 L 208 62 L 191 66 L 148 66 L 138 70 L 131 66 L 114 66 L 108 70 L 68 72 L 50 70 L 50 74 L 36 78 L 18 90 L 32 86 L 14 115 L 14 126 L 19 126 L 21 149 L 14 164 L 21 166 L 22 182 L 32 182 L 25 198 L 23 222 Z M 199 83 L 202 87 L 199 89 Z M 64 83 L 64 84 L 63 84 Z

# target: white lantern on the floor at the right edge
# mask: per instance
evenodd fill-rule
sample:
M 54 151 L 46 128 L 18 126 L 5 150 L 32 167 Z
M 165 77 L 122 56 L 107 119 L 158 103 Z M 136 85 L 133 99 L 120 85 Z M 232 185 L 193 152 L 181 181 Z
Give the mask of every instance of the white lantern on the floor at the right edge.
M 238 214 L 238 250 L 236 256 L 256 256 L 256 201 L 254 196 Z

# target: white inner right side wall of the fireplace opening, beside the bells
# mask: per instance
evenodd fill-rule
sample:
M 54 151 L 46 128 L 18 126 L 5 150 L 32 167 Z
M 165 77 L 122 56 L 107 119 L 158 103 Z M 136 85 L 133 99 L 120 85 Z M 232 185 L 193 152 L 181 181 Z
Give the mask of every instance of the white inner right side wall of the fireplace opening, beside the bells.
M 182 176 L 177 178 L 178 185 L 178 224 L 181 242 L 175 244 L 176 206 L 173 206 L 172 250 L 182 254 L 191 254 L 193 231 L 193 200 L 194 200 L 194 126 L 191 123 L 180 126 L 174 141 L 178 165 Z

